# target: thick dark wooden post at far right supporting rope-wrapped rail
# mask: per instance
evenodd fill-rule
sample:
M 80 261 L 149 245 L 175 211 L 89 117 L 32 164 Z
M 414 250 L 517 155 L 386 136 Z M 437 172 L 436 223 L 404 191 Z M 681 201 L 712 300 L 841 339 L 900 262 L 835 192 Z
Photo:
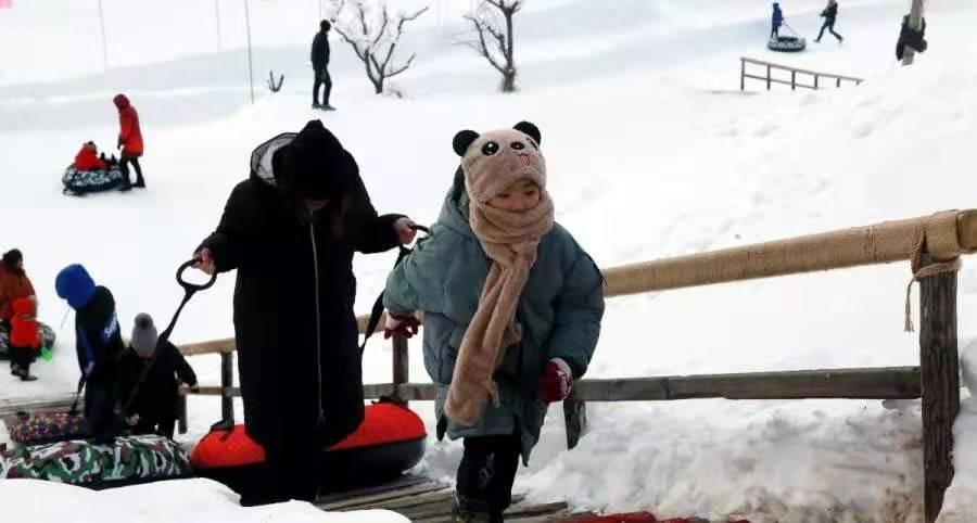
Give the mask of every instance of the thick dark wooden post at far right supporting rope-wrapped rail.
M 924 264 L 931 260 L 924 257 Z M 919 366 L 923 385 L 923 510 L 934 523 L 953 481 L 953 421 L 960 411 L 956 356 L 956 272 L 919 283 Z

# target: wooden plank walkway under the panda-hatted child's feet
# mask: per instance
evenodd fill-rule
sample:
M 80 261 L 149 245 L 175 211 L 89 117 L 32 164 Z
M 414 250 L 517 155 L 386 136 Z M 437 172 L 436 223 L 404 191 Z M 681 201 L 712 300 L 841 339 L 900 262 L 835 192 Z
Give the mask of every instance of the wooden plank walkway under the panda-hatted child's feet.
M 328 511 L 382 509 L 397 512 L 413 522 L 448 523 L 454 489 L 451 485 L 420 476 L 404 475 L 386 484 L 320 497 L 316 506 Z M 592 515 L 573 513 L 563 501 L 532 505 L 516 495 L 506 511 L 506 521 L 536 523 L 572 521 Z

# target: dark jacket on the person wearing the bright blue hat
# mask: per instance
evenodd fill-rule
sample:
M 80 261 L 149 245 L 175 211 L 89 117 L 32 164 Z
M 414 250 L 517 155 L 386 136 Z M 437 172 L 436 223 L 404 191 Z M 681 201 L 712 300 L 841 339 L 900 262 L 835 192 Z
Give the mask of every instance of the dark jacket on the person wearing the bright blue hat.
M 104 286 L 97 286 L 88 304 L 75 312 L 75 341 L 81 372 L 92 366 L 87 386 L 111 386 L 125 344 L 115 315 L 115 298 Z

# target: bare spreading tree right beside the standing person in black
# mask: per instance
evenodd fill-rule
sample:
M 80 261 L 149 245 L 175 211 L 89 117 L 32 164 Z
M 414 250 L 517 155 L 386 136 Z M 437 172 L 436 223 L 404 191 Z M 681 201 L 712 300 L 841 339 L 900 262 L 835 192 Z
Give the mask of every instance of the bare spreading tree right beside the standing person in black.
M 394 65 L 394 51 L 404 36 L 404 26 L 420 17 L 429 8 L 391 15 L 385 0 L 378 3 L 379 9 L 370 9 L 365 0 L 333 0 L 335 14 L 332 27 L 353 48 L 366 66 L 367 77 L 377 94 L 381 94 L 389 78 L 404 73 L 414 63 L 415 54 L 411 54 L 403 65 Z

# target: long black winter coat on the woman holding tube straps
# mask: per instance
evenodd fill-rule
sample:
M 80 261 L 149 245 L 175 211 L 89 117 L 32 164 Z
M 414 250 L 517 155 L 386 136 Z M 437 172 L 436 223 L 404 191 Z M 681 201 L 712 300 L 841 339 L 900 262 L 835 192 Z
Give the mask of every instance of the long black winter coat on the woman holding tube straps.
M 290 140 L 254 151 L 250 178 L 233 189 L 202 246 L 218 271 L 238 270 L 234 334 L 248 434 L 266 447 L 296 438 L 326 446 L 364 417 L 353 253 L 396 246 L 401 216 L 378 217 L 355 171 L 342 234 L 325 211 L 303 224 L 270 168 L 272 153 Z

